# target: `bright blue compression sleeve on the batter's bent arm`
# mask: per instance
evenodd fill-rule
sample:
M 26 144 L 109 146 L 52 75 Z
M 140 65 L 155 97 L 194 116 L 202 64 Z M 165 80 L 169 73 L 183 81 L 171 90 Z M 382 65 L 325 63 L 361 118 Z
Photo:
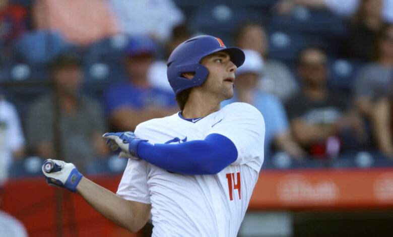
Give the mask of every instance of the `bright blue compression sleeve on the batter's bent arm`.
M 237 159 L 233 142 L 220 134 L 180 144 L 141 142 L 138 155 L 160 168 L 184 174 L 215 174 Z

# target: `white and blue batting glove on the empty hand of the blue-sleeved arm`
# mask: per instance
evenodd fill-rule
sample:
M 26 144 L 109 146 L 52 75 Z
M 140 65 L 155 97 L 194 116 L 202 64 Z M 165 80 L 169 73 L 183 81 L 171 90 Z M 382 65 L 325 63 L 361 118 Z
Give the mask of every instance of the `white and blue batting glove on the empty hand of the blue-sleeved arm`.
M 108 145 L 112 151 L 116 151 L 119 148 L 121 149 L 119 154 L 120 158 L 139 158 L 138 144 L 148 141 L 140 139 L 133 132 L 105 133 L 102 135 L 102 138 L 107 139 L 106 145 Z

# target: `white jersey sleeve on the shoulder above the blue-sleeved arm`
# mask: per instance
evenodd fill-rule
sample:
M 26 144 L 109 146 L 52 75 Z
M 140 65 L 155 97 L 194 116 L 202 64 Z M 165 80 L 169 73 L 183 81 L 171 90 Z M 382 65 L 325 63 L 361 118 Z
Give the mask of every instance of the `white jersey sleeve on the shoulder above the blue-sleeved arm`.
M 233 164 L 246 164 L 259 172 L 264 161 L 264 117 L 247 103 L 232 103 L 223 109 L 222 120 L 215 121 L 207 135 L 217 133 L 229 138 L 238 154 Z

